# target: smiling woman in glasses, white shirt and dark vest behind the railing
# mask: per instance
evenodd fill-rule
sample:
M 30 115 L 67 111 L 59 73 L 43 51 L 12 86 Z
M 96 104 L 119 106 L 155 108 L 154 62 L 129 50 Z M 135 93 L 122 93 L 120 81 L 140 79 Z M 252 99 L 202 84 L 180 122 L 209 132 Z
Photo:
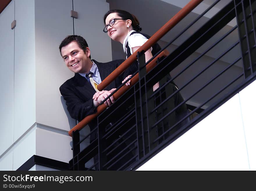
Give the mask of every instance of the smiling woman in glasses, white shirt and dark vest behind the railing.
M 149 35 L 140 33 L 142 28 L 140 28 L 138 19 L 125 10 L 109 10 L 104 15 L 104 22 L 105 27 L 103 31 L 105 33 L 108 33 L 108 36 L 112 40 L 118 41 L 123 45 L 123 49 L 127 55 L 127 58 L 131 56 L 132 53 L 134 53 L 150 38 Z M 154 44 L 150 49 L 148 49 L 145 52 L 146 62 L 150 60 L 150 58 L 152 58 L 153 55 L 155 55 L 160 50 L 161 47 L 157 43 Z M 133 63 L 129 67 L 129 74 L 133 74 L 138 70 L 137 65 L 138 64 L 136 60 L 135 63 Z M 130 76 L 131 75 L 127 76 L 125 80 L 127 80 Z M 170 79 L 170 75 L 167 75 L 167 79 Z M 126 85 L 130 85 L 130 81 L 128 81 Z M 155 91 L 157 88 L 159 88 L 159 82 L 153 86 L 153 91 Z M 173 82 L 166 86 L 166 88 L 168 88 L 168 94 L 172 94 L 172 92 L 175 92 L 178 89 Z M 165 99 L 164 97 L 166 97 L 166 95 L 163 96 L 163 94 L 166 94 L 166 92 L 164 92 L 164 90 L 161 90 L 161 92 L 159 92 L 160 95 L 158 96 L 158 98 L 162 97 L 163 99 Z M 157 95 L 155 97 L 157 97 Z M 160 100 L 157 101 L 158 98 L 156 98 L 155 100 L 155 106 L 160 103 Z M 182 101 L 184 101 L 184 99 L 182 98 L 181 94 L 175 94 L 173 100 L 174 106 L 179 105 L 179 103 L 181 103 Z M 180 117 L 184 116 L 186 113 L 186 104 L 184 103 L 179 108 L 177 108 L 175 113 L 176 119 L 180 119 Z

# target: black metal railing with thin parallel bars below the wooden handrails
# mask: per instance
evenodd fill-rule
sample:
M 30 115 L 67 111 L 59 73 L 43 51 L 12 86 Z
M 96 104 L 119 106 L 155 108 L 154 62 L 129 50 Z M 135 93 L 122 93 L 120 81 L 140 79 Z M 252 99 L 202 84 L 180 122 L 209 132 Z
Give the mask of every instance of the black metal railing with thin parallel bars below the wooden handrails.
M 163 47 L 202 23 L 149 73 L 138 53 L 138 83 L 97 117 L 92 132 L 83 138 L 73 132 L 71 170 L 136 169 L 255 80 L 256 0 L 232 0 L 202 22 L 218 2 Z M 234 18 L 237 24 L 227 25 Z M 81 148 L 93 133 L 95 140 Z

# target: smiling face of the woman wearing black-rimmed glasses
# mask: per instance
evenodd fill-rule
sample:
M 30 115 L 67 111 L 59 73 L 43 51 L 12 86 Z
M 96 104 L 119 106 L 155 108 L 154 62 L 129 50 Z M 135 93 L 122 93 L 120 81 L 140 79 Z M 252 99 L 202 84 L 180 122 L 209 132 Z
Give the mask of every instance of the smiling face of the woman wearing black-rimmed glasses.
M 110 13 L 105 20 L 105 24 L 109 24 L 112 19 L 122 19 L 118 16 L 117 13 Z M 108 26 L 108 35 L 111 39 L 115 41 L 119 41 L 123 44 L 123 41 L 127 34 L 129 33 L 129 28 L 127 25 L 130 26 L 128 20 L 115 20 L 115 23 L 112 26 Z

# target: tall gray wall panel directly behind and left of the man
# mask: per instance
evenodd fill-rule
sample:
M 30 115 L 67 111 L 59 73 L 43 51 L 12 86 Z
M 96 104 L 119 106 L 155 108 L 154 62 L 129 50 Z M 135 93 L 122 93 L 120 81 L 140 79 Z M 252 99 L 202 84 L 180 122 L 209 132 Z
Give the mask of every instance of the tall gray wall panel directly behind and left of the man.
M 36 122 L 64 130 L 75 125 L 59 92 L 61 84 L 74 76 L 58 49 L 73 34 L 70 10 L 72 0 L 35 0 Z

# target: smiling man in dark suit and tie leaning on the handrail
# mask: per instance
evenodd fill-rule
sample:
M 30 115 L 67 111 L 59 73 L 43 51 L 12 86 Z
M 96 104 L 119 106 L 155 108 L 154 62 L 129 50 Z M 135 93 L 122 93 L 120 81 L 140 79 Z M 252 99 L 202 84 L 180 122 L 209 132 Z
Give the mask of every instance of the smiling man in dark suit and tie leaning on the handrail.
M 75 73 L 74 77 L 61 85 L 60 92 L 66 100 L 70 116 L 81 121 L 86 116 L 96 113 L 96 107 L 99 103 L 121 85 L 123 79 L 120 75 L 104 91 L 96 93 L 86 74 L 92 72 L 92 78 L 100 83 L 124 60 L 114 60 L 108 63 L 91 60 L 90 49 L 86 40 L 78 35 L 67 36 L 61 42 L 59 49 L 66 66 Z M 104 103 L 110 106 L 114 101 L 112 96 Z M 95 121 L 91 122 L 89 126 L 94 127 L 94 123 Z

